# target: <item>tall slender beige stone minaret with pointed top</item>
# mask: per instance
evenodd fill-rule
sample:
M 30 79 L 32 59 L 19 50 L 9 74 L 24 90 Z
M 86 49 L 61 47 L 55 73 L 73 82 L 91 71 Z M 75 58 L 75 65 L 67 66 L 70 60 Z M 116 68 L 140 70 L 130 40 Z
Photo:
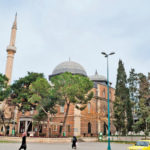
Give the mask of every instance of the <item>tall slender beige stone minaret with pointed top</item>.
M 10 85 L 10 83 L 11 83 L 13 60 L 14 60 L 14 55 L 16 53 L 16 47 L 15 47 L 16 31 L 17 31 L 17 13 L 15 15 L 15 20 L 14 20 L 12 30 L 11 30 L 10 43 L 6 49 L 6 51 L 7 51 L 7 63 L 6 63 L 5 75 L 9 79 L 8 85 Z

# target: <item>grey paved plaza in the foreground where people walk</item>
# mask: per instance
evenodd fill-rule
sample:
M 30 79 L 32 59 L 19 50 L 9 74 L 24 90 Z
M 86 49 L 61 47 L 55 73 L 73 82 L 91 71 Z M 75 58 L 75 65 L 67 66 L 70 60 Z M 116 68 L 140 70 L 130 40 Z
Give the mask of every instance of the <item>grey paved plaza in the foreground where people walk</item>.
M 112 150 L 127 150 L 129 144 L 111 143 Z M 18 150 L 20 143 L 0 143 L 0 150 Z M 71 143 L 28 143 L 27 150 L 71 150 Z M 107 143 L 81 142 L 77 150 L 107 150 Z

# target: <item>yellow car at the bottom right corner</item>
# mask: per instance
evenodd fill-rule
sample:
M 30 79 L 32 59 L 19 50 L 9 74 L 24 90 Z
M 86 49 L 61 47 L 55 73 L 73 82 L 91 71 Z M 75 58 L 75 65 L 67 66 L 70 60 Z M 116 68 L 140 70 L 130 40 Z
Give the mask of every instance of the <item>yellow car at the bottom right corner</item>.
M 150 150 L 150 140 L 137 141 L 135 145 L 128 147 L 129 150 Z

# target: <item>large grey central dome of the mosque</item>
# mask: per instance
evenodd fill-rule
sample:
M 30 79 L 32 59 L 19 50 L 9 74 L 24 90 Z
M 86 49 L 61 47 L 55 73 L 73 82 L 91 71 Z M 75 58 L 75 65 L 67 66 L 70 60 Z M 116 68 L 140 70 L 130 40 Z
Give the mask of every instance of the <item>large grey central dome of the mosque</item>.
M 55 67 L 51 76 L 61 74 L 64 72 L 71 72 L 72 74 L 80 74 L 80 75 L 87 76 L 84 68 L 80 64 L 74 61 L 65 61 L 63 63 L 60 63 Z

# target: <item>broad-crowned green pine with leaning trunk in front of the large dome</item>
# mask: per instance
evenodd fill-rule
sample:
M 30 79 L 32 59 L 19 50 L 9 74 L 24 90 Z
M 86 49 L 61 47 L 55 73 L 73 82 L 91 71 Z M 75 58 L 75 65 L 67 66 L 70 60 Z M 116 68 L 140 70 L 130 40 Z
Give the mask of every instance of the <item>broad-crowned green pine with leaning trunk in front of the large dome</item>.
M 93 82 L 88 77 L 68 72 L 52 77 L 51 82 L 54 85 L 54 93 L 59 96 L 60 104 L 67 105 L 61 135 L 66 124 L 70 104 L 72 103 L 77 109 L 83 110 L 93 97 L 93 92 L 90 92 Z

